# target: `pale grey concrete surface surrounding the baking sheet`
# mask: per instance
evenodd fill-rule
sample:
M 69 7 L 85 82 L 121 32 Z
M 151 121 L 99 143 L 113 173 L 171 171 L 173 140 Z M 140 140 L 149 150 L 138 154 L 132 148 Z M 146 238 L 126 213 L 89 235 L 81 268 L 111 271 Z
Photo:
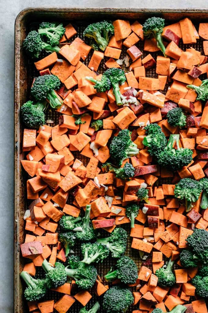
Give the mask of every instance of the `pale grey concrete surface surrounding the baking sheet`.
M 14 22 L 28 7 L 208 8 L 205 0 L 0 0 L 0 312 L 13 308 Z

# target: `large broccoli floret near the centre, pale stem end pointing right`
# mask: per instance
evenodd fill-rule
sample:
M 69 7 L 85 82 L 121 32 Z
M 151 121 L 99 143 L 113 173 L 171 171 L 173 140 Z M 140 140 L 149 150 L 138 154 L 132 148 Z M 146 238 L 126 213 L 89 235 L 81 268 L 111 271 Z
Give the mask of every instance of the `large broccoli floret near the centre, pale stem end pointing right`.
M 110 143 L 110 156 L 117 166 L 121 166 L 123 160 L 139 153 L 137 145 L 131 140 L 131 132 L 122 129 Z

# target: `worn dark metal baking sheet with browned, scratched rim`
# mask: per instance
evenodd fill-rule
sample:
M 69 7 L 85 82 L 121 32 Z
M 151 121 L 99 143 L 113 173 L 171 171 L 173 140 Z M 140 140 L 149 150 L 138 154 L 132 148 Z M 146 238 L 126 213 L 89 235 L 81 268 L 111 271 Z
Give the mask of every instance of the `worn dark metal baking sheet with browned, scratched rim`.
M 20 244 L 24 242 L 25 230 L 24 230 L 24 212 L 28 206 L 28 201 L 26 197 L 26 181 L 28 179 L 27 174 L 22 170 L 21 160 L 24 157 L 22 153 L 22 125 L 19 118 L 20 106 L 30 98 L 30 87 L 32 78 L 38 74 L 34 68 L 33 62 L 27 58 L 25 53 L 22 51 L 22 42 L 28 33 L 32 22 L 40 22 L 43 20 L 57 20 L 63 21 L 66 25 L 67 22 L 72 22 L 77 30 L 77 35 L 82 38 L 82 31 L 85 25 L 93 23 L 94 21 L 100 19 L 129 19 L 139 21 L 145 20 L 153 15 L 160 16 L 166 19 L 168 23 L 175 23 L 181 18 L 190 17 L 193 21 L 196 29 L 200 22 L 207 21 L 208 9 L 139 9 L 139 8 L 26 8 L 21 11 L 15 22 L 15 85 L 14 85 L 14 312 L 15 313 L 26 313 L 28 312 L 27 301 L 24 299 L 23 291 L 24 286 L 20 280 L 19 274 L 24 266 L 24 258 L 20 253 Z M 73 39 L 73 38 L 72 38 Z M 143 50 L 143 44 L 140 41 L 137 44 L 140 50 Z M 186 45 L 188 47 L 189 45 Z M 202 51 L 202 41 L 197 40 L 197 43 L 191 45 L 195 49 Z M 180 46 L 183 49 L 183 44 Z M 122 47 L 122 56 L 125 55 L 126 48 Z M 143 51 L 142 51 L 143 52 Z M 92 52 L 91 52 L 92 53 Z M 143 52 L 143 56 L 147 55 L 148 52 Z M 157 57 L 158 53 L 153 53 L 154 58 Z M 44 54 L 42 55 L 44 56 Z M 87 58 L 87 63 L 89 62 L 91 54 Z M 85 61 L 85 64 L 86 64 Z M 106 60 L 103 60 L 104 64 Z M 125 69 L 125 68 L 124 68 Z M 99 69 L 100 71 L 100 69 Z M 101 66 L 101 71 L 103 67 Z M 147 72 L 148 77 L 156 77 L 155 69 L 151 69 Z M 46 118 L 54 119 L 54 125 L 58 124 L 57 112 L 49 113 Z M 76 156 L 78 156 L 76 154 Z M 83 163 L 86 165 L 88 158 L 84 156 L 79 156 Z M 68 200 L 70 201 L 70 199 Z M 129 224 L 124 224 L 128 234 L 130 233 Z M 106 234 L 107 235 L 107 234 Z M 75 249 L 75 252 L 79 251 L 79 247 Z M 138 251 L 131 249 L 131 238 L 128 236 L 128 245 L 126 254 L 129 255 L 136 261 L 138 266 L 141 266 L 141 260 L 139 259 Z M 96 265 L 98 269 L 98 274 L 102 276 L 102 273 L 107 273 L 110 267 L 115 263 L 115 260 L 108 258 L 103 264 Z M 37 277 L 43 277 L 43 271 L 41 268 L 37 267 Z M 89 301 L 89 306 L 91 306 L 95 299 L 102 299 L 102 297 L 97 298 L 93 293 L 92 300 Z M 62 294 L 49 291 L 44 300 L 55 299 L 58 300 Z M 102 307 L 102 300 L 100 301 Z M 89 308 L 88 306 L 88 308 Z M 74 305 L 70 308 L 69 312 L 78 313 L 81 305 L 76 301 Z M 136 307 L 130 307 L 127 311 L 131 312 Z M 138 309 L 138 308 L 137 308 Z M 104 312 L 100 308 L 99 313 Z

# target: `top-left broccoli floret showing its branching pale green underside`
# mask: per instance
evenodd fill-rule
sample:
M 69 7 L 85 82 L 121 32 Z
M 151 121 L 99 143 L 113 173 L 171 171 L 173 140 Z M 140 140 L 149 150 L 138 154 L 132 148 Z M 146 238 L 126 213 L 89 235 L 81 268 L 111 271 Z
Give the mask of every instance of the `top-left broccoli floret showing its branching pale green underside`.
M 51 46 L 58 46 L 59 40 L 65 33 L 65 28 L 62 23 L 42 22 L 40 23 L 38 33 Z

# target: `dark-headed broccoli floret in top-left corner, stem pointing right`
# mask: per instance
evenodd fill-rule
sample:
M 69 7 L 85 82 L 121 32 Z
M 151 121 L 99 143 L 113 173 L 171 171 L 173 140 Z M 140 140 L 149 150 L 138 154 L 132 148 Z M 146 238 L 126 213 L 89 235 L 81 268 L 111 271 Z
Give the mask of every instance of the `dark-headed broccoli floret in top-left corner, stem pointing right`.
M 23 41 L 23 48 L 32 59 L 38 58 L 42 50 L 47 52 L 59 52 L 59 47 L 52 47 L 41 40 L 41 36 L 35 30 L 32 30 Z

